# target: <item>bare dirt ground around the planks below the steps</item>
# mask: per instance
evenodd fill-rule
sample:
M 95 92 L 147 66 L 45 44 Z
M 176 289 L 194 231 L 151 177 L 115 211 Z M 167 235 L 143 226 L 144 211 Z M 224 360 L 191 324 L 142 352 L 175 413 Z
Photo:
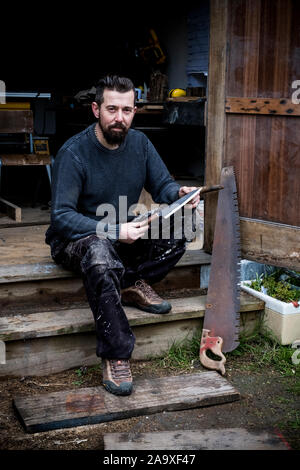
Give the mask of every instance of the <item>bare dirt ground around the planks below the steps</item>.
M 74 369 L 47 377 L 2 378 L 0 450 L 103 450 L 103 436 L 106 433 L 230 427 L 277 432 L 290 449 L 300 450 L 299 422 L 295 424 L 300 407 L 299 397 L 290 390 L 297 379 L 285 377 L 270 368 L 250 372 L 243 367 L 246 363 L 246 355 L 242 358 L 227 358 L 226 363 L 226 378 L 240 392 L 239 401 L 36 434 L 28 434 L 23 430 L 14 414 L 13 397 L 98 386 L 101 381 L 100 369 Z M 188 373 L 200 373 L 202 370 L 198 361 L 194 362 L 193 369 L 184 372 L 157 367 L 151 361 L 132 362 L 135 378 L 184 373 L 188 379 Z

